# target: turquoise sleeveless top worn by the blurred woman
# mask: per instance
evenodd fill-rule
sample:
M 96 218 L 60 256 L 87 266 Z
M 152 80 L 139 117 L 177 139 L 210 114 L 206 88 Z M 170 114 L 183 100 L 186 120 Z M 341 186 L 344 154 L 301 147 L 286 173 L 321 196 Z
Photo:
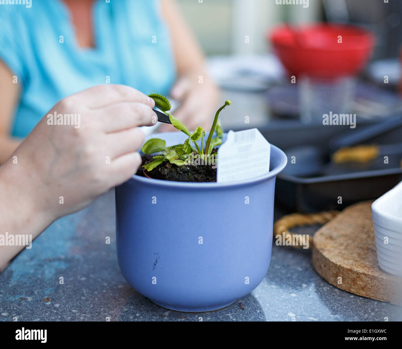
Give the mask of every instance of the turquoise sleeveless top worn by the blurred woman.
M 78 46 L 62 0 L 0 6 L 0 60 L 21 84 L 11 135 L 25 137 L 59 100 L 98 84 L 167 93 L 176 79 L 158 0 L 96 0 L 94 48 Z

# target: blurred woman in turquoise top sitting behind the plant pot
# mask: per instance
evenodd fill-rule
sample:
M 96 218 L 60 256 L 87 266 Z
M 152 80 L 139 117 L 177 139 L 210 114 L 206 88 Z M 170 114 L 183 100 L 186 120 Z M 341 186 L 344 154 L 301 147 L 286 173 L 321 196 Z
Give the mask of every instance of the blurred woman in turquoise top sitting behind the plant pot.
M 109 82 L 169 93 L 189 129 L 210 126 L 217 91 L 174 0 L 41 0 L 2 6 L 0 23 L 0 164 L 57 101 Z

